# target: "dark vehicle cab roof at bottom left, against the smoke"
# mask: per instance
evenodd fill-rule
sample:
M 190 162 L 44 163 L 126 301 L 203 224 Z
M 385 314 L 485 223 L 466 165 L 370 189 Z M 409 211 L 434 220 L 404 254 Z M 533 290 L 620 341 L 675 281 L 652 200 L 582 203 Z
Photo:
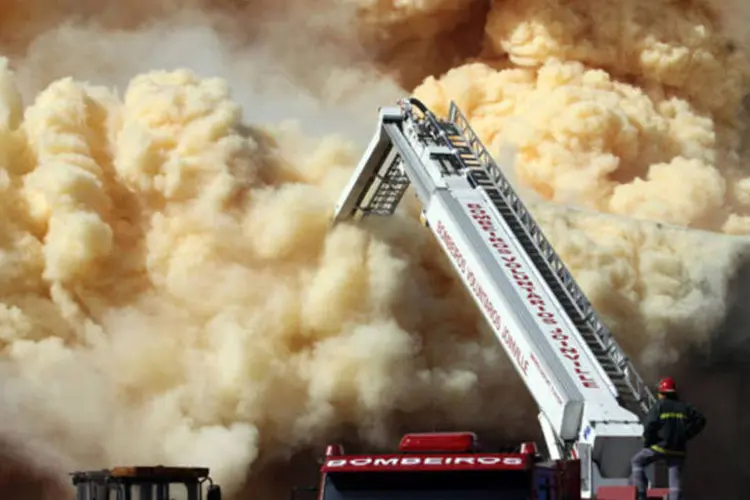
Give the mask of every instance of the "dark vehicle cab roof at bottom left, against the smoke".
M 71 476 L 76 500 L 221 500 L 203 467 L 114 467 Z

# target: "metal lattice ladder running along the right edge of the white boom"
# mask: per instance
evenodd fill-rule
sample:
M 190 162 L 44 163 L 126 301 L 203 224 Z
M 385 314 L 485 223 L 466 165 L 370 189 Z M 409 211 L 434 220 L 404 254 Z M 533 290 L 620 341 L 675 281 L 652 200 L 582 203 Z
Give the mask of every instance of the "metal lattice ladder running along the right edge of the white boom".
M 645 415 L 655 401 L 648 385 L 637 373 L 632 362 L 619 346 L 611 331 L 599 319 L 594 307 L 573 278 L 573 275 L 562 262 L 562 259 L 560 259 L 552 244 L 547 240 L 541 228 L 521 201 L 508 179 L 495 163 L 485 146 L 479 140 L 468 120 L 455 102 L 451 102 L 450 105 L 449 121 L 458 129 L 461 135 L 464 136 L 470 149 L 476 155 L 476 158 L 487 170 L 490 178 L 495 182 L 498 188 L 500 188 L 501 193 L 506 198 L 506 203 L 510 212 L 517 219 L 520 227 L 526 232 L 529 240 L 549 266 L 553 276 L 571 300 L 578 314 L 580 314 L 581 319 L 583 319 L 585 324 L 590 328 L 598 347 L 614 363 L 614 369 L 622 375 L 623 380 L 631 391 L 631 397 L 635 399 L 635 402 L 638 405 L 641 416 Z M 505 216 L 505 214 L 501 215 Z M 613 383 L 614 382 L 615 380 L 613 380 Z M 619 388 L 618 392 L 620 392 Z

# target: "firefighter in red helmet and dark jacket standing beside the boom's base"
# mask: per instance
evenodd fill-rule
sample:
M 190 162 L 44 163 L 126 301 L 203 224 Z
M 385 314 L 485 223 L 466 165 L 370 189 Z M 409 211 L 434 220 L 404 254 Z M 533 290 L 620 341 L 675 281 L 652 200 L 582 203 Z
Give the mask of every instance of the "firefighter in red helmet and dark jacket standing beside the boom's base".
M 663 460 L 669 467 L 669 500 L 682 498 L 680 476 L 687 442 L 706 425 L 706 417 L 690 404 L 680 401 L 671 377 L 659 382 L 658 400 L 643 424 L 644 447 L 631 461 L 636 499 L 646 500 L 646 467 Z

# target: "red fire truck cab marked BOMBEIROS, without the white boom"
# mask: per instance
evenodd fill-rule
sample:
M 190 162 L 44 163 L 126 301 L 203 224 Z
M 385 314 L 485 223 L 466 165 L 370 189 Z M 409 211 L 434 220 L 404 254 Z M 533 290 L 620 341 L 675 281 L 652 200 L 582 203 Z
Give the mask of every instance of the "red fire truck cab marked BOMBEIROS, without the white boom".
M 578 460 L 546 460 L 534 443 L 484 452 L 472 432 L 407 434 L 388 455 L 329 445 L 318 500 L 579 500 Z

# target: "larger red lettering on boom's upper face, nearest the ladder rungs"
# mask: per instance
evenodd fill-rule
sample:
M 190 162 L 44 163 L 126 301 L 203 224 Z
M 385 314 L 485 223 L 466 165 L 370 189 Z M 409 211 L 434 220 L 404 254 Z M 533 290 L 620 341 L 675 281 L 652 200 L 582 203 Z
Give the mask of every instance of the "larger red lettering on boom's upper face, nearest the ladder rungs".
M 536 287 L 531 280 L 530 273 L 525 272 L 521 260 L 513 255 L 508 243 L 503 237 L 498 234 L 495 229 L 492 217 L 482 208 L 479 203 L 467 203 L 466 208 L 469 209 L 469 215 L 476 222 L 479 228 L 484 231 L 488 238 L 490 245 L 494 251 L 500 256 L 500 262 L 510 271 L 512 281 L 518 286 L 524 293 L 522 297 L 526 299 L 526 302 L 535 310 L 537 318 L 550 327 L 549 337 L 554 340 L 558 345 L 560 354 L 568 359 L 573 365 L 573 372 L 578 376 L 583 387 L 588 389 L 598 389 L 599 386 L 591 376 L 591 371 L 584 370 L 581 363 L 581 354 L 574 346 L 569 345 L 569 337 L 565 335 L 562 328 L 555 317 L 554 310 L 548 310 L 544 299 L 537 293 Z

